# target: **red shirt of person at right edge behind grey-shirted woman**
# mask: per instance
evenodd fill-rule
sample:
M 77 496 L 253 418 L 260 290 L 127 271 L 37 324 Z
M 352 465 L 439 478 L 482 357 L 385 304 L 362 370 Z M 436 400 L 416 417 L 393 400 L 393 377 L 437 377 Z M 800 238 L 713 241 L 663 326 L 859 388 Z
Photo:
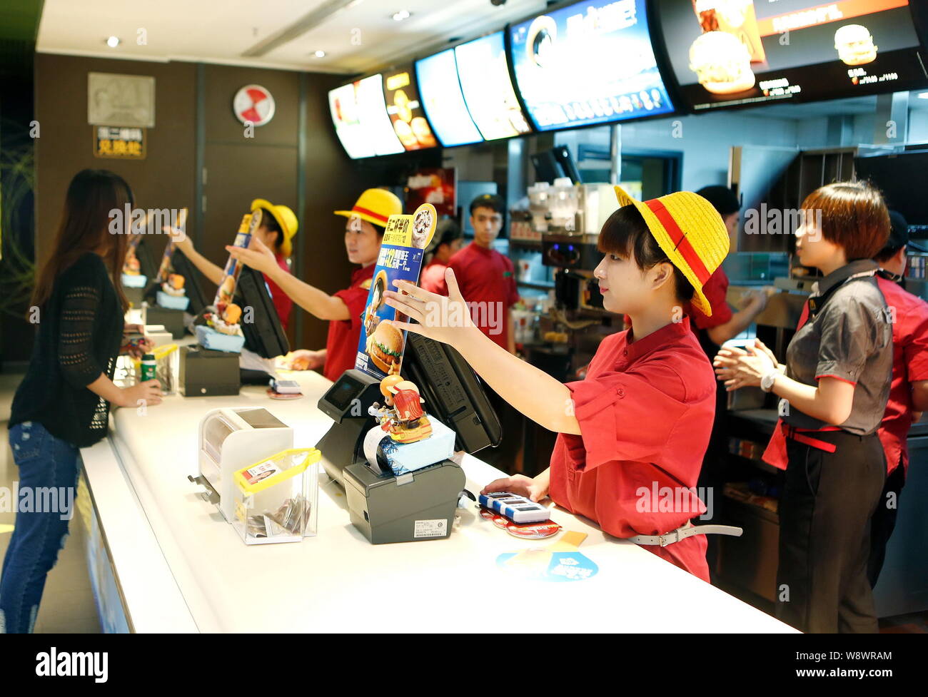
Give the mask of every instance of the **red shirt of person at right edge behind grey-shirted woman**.
M 886 453 L 886 469 L 899 463 L 909 472 L 906 439 L 912 425 L 912 383 L 928 380 L 928 303 L 898 284 L 876 277 L 893 319 L 893 378 L 883 423 L 877 431 Z

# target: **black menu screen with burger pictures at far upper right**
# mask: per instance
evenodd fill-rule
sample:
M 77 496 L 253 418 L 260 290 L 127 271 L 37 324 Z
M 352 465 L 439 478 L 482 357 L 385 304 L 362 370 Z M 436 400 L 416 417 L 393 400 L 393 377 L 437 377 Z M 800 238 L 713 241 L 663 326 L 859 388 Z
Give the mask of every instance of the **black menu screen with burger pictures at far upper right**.
M 658 0 L 690 108 L 817 101 L 928 84 L 908 0 Z

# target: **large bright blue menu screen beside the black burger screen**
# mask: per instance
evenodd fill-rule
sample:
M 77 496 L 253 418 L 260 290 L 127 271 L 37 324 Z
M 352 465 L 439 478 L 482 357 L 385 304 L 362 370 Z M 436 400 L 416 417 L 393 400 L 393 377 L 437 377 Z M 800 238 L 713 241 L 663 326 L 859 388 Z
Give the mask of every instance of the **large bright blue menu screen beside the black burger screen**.
M 577 3 L 509 32 L 519 92 L 541 131 L 674 110 L 651 47 L 645 0 Z

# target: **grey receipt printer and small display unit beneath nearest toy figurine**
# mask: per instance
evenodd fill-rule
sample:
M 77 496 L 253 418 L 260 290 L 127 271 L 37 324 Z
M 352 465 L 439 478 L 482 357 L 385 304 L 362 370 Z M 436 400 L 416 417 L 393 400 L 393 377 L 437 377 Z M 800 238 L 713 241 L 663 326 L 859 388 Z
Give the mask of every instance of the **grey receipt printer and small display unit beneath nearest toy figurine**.
M 372 544 L 444 539 L 451 533 L 464 471 L 442 459 L 404 475 L 378 453 L 368 462 L 365 437 L 379 428 L 367 410 L 380 397 L 380 381 L 349 370 L 319 400 L 319 409 L 335 421 L 316 444 L 326 473 L 345 490 L 352 524 Z

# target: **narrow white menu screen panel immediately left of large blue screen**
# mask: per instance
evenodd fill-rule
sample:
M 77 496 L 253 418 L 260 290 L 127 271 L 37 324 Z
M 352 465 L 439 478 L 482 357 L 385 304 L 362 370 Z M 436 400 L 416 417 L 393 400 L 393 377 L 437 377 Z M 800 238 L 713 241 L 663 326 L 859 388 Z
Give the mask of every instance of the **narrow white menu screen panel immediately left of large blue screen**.
M 503 32 L 456 46 L 455 57 L 464 101 L 486 140 L 532 130 L 509 79 Z

